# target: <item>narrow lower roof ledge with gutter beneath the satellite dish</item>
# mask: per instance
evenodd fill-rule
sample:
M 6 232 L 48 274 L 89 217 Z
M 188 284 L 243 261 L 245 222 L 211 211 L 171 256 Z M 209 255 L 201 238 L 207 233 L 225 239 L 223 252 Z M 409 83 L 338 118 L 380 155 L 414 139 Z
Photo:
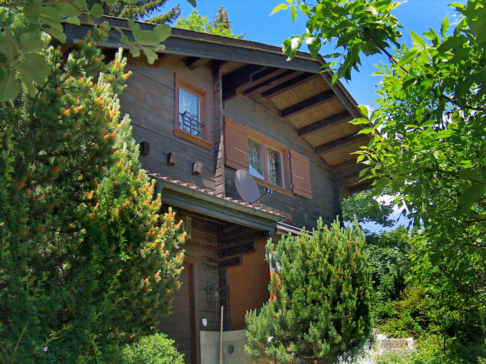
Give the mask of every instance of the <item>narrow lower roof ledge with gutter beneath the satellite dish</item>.
M 271 232 L 277 232 L 277 223 L 286 219 L 274 212 L 209 194 L 162 177 L 149 176 L 156 179 L 156 193 L 161 194 L 162 202 L 174 207 Z

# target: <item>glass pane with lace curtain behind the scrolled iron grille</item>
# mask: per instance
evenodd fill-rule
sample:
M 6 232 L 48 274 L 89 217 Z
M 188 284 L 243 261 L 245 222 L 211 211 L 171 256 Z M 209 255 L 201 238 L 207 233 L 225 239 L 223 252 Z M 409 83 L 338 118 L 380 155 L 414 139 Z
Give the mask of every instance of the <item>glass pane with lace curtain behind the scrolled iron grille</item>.
M 201 98 L 179 87 L 179 129 L 195 136 L 203 135 L 200 124 Z

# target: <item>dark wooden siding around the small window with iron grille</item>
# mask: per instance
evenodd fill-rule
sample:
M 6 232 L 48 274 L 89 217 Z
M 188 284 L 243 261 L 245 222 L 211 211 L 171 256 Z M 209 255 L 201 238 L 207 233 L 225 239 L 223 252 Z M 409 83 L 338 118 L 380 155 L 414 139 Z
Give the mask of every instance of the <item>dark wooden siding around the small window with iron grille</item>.
M 140 156 L 142 167 L 161 176 L 191 182 L 200 188 L 215 190 L 214 148 L 211 150 L 178 138 L 174 135 L 174 72 L 190 78 L 212 90 L 213 76 L 210 65 L 194 70 L 187 68 L 173 56 L 164 57 L 158 67 L 129 61 L 126 71 L 128 87 L 121 94 L 121 115 L 128 113 L 132 120 L 133 136 L 137 142 L 150 143 L 150 153 Z M 213 95 L 208 95 L 210 120 L 213 119 Z M 211 143 L 214 132 L 211 128 Z M 177 163 L 167 165 L 167 153 L 177 153 Z M 192 174 L 192 163 L 202 163 L 202 173 Z

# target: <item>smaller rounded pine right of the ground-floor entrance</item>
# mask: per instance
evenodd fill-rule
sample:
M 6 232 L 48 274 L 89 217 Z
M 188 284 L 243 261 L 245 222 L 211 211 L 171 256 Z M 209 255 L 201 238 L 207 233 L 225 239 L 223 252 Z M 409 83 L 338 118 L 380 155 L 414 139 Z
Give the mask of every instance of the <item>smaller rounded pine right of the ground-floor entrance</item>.
M 246 314 L 245 352 L 272 363 L 327 363 L 359 343 L 371 330 L 371 284 L 364 235 L 354 227 L 323 227 L 309 236 L 270 240 L 266 257 L 278 274 L 274 299 Z

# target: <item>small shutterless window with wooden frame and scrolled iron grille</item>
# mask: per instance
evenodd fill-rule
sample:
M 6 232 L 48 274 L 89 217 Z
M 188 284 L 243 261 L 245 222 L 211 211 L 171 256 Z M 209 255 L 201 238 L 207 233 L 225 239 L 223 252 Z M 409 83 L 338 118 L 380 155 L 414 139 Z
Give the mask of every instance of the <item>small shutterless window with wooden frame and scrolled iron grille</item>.
M 174 91 L 174 134 L 210 150 L 209 90 L 176 73 Z

